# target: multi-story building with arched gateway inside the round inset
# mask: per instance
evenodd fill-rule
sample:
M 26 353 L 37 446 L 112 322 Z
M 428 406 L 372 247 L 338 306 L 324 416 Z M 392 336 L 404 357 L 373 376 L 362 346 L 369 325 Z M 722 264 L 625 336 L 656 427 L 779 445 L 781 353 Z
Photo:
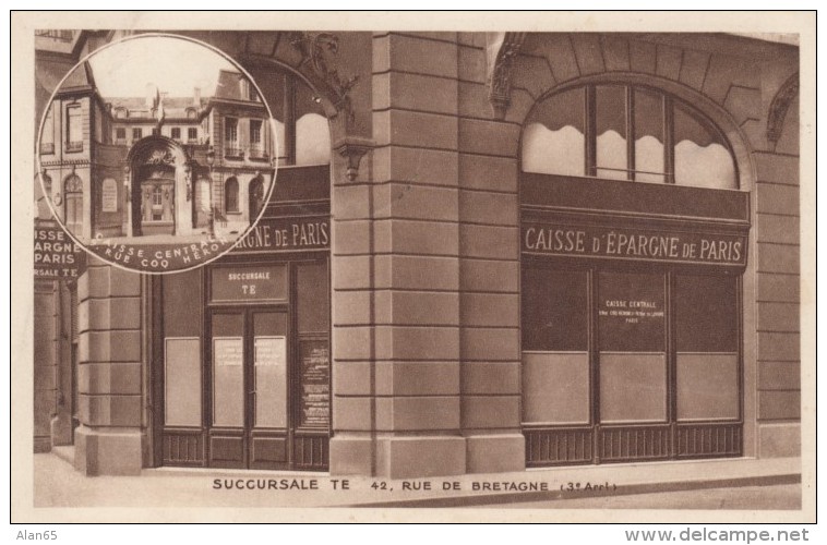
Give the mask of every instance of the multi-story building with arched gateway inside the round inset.
M 58 217 L 86 243 L 233 239 L 259 216 L 272 183 L 268 119 L 238 72 L 221 70 L 211 97 L 199 88 L 171 97 L 152 84 L 144 97 L 103 97 L 84 62 L 46 110 L 43 180 Z

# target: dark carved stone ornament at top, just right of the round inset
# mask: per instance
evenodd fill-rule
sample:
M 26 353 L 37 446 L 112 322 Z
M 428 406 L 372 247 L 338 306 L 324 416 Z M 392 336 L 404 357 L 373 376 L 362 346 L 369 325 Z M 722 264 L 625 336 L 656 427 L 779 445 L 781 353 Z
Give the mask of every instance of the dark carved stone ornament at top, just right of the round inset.
M 324 85 L 336 111 L 344 111 L 352 117 L 348 93 L 359 80 L 355 75 L 348 80 L 339 77 L 336 69 L 336 56 L 339 51 L 339 38 L 333 33 L 290 33 L 290 44 L 301 53 L 300 69 L 309 69 L 315 83 Z

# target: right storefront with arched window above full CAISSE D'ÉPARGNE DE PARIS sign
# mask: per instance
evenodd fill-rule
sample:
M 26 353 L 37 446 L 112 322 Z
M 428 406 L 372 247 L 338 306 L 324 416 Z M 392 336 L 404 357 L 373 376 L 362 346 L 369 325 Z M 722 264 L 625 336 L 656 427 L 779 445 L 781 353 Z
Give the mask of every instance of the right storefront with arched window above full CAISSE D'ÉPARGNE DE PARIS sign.
M 523 146 L 526 464 L 740 456 L 750 206 L 726 141 L 590 85 L 539 102 Z

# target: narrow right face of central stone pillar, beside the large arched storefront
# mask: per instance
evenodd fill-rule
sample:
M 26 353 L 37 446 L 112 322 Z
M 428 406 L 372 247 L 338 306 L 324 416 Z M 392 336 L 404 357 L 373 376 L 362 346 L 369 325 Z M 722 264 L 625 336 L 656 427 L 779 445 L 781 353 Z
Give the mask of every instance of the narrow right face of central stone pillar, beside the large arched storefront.
M 462 427 L 469 473 L 522 471 L 519 119 L 494 120 L 484 35 L 459 36 L 459 318 Z M 514 95 L 514 93 L 512 94 Z

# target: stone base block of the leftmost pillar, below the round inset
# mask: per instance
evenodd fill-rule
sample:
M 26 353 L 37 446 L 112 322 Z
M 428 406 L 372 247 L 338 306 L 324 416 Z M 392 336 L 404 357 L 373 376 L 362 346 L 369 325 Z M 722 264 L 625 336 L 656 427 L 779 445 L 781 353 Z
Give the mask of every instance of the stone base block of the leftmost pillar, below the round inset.
M 75 431 L 74 468 L 87 476 L 141 473 L 141 432 Z

